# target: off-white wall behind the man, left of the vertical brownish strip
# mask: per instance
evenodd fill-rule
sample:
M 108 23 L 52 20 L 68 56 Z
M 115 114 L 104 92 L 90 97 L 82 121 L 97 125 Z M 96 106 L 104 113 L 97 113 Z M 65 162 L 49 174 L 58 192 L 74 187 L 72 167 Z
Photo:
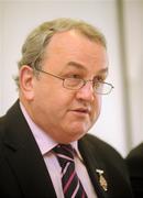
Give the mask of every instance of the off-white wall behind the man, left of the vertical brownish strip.
M 127 131 L 116 0 L 3 0 L 0 1 L 0 114 L 3 114 L 18 97 L 12 76 L 16 74 L 16 62 L 26 34 L 41 22 L 54 18 L 79 18 L 95 24 L 106 35 L 110 59 L 108 80 L 114 85 L 114 90 L 103 97 L 101 116 L 90 133 L 106 140 L 125 155 L 128 147 L 124 138 Z

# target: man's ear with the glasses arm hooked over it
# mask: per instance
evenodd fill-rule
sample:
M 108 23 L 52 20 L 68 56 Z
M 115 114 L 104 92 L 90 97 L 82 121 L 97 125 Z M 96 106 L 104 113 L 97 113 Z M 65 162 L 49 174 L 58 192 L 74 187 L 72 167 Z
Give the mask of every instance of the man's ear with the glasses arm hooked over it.
M 20 90 L 26 100 L 32 100 L 34 97 L 34 73 L 33 69 L 23 65 L 20 69 Z

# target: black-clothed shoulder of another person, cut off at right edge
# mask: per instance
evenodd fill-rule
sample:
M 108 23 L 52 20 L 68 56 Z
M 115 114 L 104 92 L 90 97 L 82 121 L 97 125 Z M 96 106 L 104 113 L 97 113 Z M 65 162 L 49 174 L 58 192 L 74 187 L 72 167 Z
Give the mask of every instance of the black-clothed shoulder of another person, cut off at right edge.
M 143 143 L 129 153 L 127 165 L 129 167 L 134 197 L 143 197 Z

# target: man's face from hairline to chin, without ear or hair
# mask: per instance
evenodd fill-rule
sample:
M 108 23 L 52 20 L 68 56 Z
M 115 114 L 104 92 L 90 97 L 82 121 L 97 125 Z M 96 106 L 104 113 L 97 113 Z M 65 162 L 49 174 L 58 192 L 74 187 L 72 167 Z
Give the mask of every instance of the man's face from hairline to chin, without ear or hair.
M 108 58 L 103 46 L 75 31 L 55 34 L 45 52 L 42 69 L 61 76 L 105 79 Z M 78 140 L 100 113 L 101 96 L 87 82 L 79 90 L 63 87 L 63 80 L 40 73 L 33 76 L 31 98 L 26 97 L 32 120 L 59 143 Z

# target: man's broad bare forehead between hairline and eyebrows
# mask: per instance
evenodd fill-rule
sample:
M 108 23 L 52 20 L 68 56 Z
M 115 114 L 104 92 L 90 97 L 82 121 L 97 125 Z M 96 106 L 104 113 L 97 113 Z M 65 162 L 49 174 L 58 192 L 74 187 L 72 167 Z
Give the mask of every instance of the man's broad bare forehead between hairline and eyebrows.
M 105 46 L 81 35 L 76 31 L 67 31 L 53 35 L 45 52 L 48 66 L 72 66 L 75 68 L 107 67 L 108 57 Z M 77 64 L 70 64 L 77 63 Z M 56 67 L 56 66 L 55 66 Z

